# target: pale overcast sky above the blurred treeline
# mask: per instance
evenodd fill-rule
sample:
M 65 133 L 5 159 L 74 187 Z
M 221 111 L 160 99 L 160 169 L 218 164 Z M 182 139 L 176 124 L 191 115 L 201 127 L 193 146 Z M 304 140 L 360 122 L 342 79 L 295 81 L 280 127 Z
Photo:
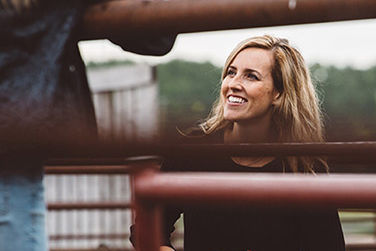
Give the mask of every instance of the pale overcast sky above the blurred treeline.
M 222 66 L 238 42 L 263 34 L 289 39 L 309 64 L 318 62 L 360 69 L 376 65 L 376 19 L 182 34 L 178 36 L 173 50 L 163 57 L 124 52 L 107 40 L 85 41 L 79 45 L 86 62 L 129 59 L 157 64 L 180 58 L 210 61 Z

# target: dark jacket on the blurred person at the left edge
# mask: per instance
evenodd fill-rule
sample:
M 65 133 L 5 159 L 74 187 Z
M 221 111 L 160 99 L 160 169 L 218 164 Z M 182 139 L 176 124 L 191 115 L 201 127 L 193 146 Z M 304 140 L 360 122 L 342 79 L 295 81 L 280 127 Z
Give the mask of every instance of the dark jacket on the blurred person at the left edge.
M 94 2 L 39 0 L 21 13 L 0 3 L 0 158 L 39 145 L 95 139 L 94 109 L 77 47 L 84 10 Z M 175 35 L 140 30 L 110 39 L 128 51 L 163 55 Z

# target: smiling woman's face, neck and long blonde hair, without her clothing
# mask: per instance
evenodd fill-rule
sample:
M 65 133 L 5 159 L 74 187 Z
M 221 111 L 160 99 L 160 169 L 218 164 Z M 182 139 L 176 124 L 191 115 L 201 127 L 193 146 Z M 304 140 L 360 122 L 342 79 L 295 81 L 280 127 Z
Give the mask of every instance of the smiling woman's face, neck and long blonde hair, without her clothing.
M 239 98 L 240 103 L 234 102 Z M 322 142 L 318 104 L 299 51 L 286 39 L 253 37 L 241 42 L 227 58 L 221 95 L 201 128 L 205 134 L 224 131 L 228 143 Z M 251 158 L 247 159 L 251 164 Z M 294 172 L 314 172 L 317 163 L 327 168 L 319 157 L 289 157 L 282 162 L 284 169 Z

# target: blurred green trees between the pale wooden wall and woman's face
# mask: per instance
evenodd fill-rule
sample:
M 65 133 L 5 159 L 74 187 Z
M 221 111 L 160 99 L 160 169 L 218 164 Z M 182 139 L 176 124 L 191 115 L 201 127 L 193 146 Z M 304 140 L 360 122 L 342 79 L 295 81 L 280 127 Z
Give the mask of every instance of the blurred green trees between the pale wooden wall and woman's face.
M 186 128 L 205 118 L 218 96 L 221 69 L 211 63 L 174 60 L 157 67 L 167 127 Z

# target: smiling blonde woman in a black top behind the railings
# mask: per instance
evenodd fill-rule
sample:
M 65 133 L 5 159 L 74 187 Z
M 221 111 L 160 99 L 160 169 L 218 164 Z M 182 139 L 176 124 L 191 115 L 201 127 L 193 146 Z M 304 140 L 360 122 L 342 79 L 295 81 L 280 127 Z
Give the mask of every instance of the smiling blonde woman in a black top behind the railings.
M 228 56 L 218 100 L 189 141 L 205 143 L 323 142 L 319 101 L 302 55 L 269 35 L 241 42 Z M 192 137 L 189 137 L 192 136 Z M 194 136 L 194 137 L 193 137 Z M 191 142 L 190 142 L 191 143 Z M 162 171 L 326 173 L 307 157 L 169 158 Z M 164 210 L 161 251 L 184 215 L 185 251 L 344 251 L 335 209 L 173 208 Z M 131 241 L 135 241 L 132 226 Z

